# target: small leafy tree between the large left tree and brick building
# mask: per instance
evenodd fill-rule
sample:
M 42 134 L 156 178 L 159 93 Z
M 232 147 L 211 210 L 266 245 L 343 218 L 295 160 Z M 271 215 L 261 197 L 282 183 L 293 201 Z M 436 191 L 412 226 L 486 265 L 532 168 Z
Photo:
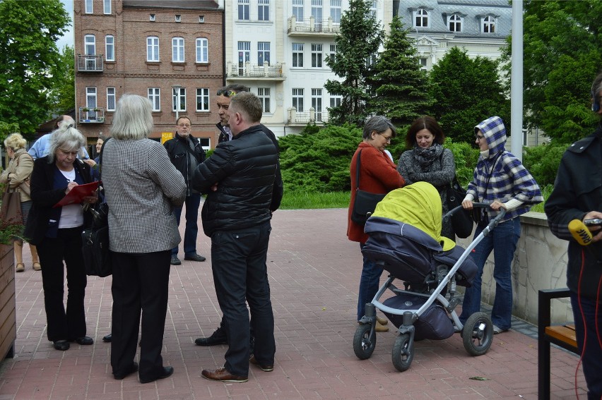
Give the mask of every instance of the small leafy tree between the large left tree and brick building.
M 75 108 L 75 52 L 73 47 L 61 49 L 60 61 L 52 71 L 57 83 L 49 90 L 49 99 L 54 114 L 68 114 Z

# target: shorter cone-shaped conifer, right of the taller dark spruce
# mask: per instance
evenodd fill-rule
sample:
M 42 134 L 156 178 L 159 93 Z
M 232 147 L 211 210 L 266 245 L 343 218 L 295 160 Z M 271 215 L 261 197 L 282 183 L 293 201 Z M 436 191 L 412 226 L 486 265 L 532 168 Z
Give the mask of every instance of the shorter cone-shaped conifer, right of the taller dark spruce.
M 391 119 L 396 126 L 409 125 L 426 114 L 432 104 L 425 71 L 420 69 L 416 48 L 408 40 L 409 30 L 398 17 L 391 22 L 391 32 L 384 42 L 384 51 L 368 79 L 377 96 L 370 100 L 372 114 Z

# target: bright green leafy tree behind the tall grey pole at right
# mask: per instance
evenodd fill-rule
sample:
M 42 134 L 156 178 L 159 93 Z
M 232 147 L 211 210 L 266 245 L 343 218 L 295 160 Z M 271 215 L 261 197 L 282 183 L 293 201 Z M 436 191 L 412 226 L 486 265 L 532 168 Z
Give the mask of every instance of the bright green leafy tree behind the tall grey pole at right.
M 596 121 L 589 92 L 602 65 L 601 14 L 599 0 L 524 4 L 525 122 L 560 143 L 591 133 Z M 505 49 L 504 61 L 511 52 Z M 506 70 L 509 77 L 509 62 Z

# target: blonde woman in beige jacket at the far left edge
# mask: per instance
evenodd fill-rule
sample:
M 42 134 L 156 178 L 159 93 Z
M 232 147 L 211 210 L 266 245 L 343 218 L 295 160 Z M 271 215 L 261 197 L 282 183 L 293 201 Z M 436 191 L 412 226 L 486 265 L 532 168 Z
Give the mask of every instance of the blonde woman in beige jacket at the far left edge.
M 33 158 L 25 150 L 27 142 L 23 139 L 20 133 L 13 133 L 8 135 L 8 138 L 4 140 L 4 148 L 6 148 L 6 154 L 11 159 L 8 167 L 2 171 L 0 175 L 0 183 L 8 183 L 10 190 L 18 190 L 21 200 L 21 214 L 23 215 L 23 226 L 27 222 L 29 210 L 31 208 L 29 178 L 33 171 Z M 25 186 L 27 186 L 25 188 Z M 23 264 L 23 240 L 18 238 L 13 242 L 16 258 L 16 272 L 25 271 L 25 264 Z M 30 243 L 29 248 L 31 250 L 31 260 L 33 262 L 33 269 L 40 271 L 42 266 L 40 265 L 40 259 L 37 257 L 37 249 L 33 244 Z

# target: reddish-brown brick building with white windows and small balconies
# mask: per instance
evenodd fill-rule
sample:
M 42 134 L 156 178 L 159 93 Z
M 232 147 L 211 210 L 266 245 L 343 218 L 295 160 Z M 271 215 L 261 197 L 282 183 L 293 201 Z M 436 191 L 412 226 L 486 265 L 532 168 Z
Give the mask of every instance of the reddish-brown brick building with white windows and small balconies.
M 217 144 L 210 107 L 224 84 L 223 1 L 74 0 L 76 121 L 89 143 L 109 135 L 124 93 L 151 99 L 151 138 L 189 117 L 203 147 Z

